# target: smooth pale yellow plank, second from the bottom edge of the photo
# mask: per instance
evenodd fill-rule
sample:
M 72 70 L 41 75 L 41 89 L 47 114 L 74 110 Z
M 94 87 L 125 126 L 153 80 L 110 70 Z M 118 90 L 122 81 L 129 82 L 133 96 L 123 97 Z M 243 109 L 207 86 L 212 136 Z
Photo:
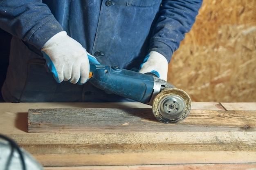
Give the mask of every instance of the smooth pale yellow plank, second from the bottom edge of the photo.
M 223 157 L 226 159 L 222 159 Z M 111 166 L 111 165 L 147 165 L 147 164 L 186 164 L 194 163 L 198 158 L 198 163 L 236 163 L 234 160 L 239 160 L 240 157 L 248 156 L 254 161 L 252 157 L 256 154 L 249 152 L 212 152 L 210 155 L 206 152 L 144 152 L 144 153 L 122 153 L 122 154 L 50 154 L 50 155 L 34 155 L 36 159 L 40 160 L 44 166 Z M 58 158 L 58 159 L 57 159 Z M 61 158 L 61 159 L 60 159 Z M 157 159 L 155 159 L 157 158 Z M 161 158 L 161 159 L 160 159 Z M 180 159 L 186 159 L 180 160 Z M 146 160 L 145 160 L 146 159 Z M 248 159 L 247 159 L 248 160 Z M 215 162 L 216 161 L 216 162 Z M 245 159 L 237 161 L 238 163 L 251 163 Z

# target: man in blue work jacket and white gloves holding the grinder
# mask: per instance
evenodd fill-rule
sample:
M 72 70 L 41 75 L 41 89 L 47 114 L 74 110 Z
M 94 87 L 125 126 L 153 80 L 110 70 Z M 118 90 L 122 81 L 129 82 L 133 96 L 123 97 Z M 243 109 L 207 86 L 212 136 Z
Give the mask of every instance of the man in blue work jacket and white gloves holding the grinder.
M 1 0 L 0 27 L 13 35 L 2 96 L 6 102 L 123 101 L 86 83 L 89 60 L 166 80 L 168 62 L 201 5 L 202 0 Z M 52 74 L 35 59 L 45 59 Z

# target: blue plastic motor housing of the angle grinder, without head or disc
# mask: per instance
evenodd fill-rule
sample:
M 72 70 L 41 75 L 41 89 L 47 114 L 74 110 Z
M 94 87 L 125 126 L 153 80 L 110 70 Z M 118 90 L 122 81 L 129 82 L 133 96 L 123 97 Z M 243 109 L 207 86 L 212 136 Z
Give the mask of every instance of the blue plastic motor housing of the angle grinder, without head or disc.
M 155 77 L 118 66 L 90 64 L 92 76 L 89 82 L 97 88 L 119 96 L 150 104 L 154 92 Z

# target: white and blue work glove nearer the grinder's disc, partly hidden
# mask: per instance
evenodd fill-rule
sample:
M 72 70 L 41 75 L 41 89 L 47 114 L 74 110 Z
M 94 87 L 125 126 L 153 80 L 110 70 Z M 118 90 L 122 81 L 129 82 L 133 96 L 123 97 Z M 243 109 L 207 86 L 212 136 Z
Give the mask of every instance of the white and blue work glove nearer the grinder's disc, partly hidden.
M 139 73 L 155 73 L 160 79 L 167 81 L 168 61 L 164 55 L 150 51 L 140 65 Z

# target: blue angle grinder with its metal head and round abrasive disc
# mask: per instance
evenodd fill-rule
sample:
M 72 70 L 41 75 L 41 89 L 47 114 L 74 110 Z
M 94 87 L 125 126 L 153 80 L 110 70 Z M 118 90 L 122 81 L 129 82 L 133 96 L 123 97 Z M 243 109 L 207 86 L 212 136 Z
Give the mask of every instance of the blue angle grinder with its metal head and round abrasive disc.
M 153 115 L 162 123 L 180 121 L 191 110 L 191 99 L 186 92 L 152 73 L 90 63 L 89 82 L 108 93 L 152 105 Z

